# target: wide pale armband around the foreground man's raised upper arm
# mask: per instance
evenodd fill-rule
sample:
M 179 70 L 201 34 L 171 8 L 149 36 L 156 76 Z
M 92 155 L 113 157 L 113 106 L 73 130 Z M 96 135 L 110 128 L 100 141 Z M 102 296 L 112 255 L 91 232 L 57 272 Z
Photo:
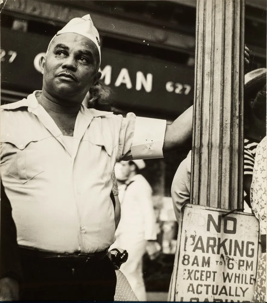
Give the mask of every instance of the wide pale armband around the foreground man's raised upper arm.
M 163 158 L 166 120 L 136 117 L 131 154 L 133 160 Z

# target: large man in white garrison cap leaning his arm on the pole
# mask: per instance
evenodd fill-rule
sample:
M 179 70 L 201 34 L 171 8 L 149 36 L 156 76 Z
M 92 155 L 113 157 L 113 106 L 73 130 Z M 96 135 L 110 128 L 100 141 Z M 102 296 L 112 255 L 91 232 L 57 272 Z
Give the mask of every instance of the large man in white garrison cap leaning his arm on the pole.
M 42 90 L 1 106 L 1 179 L 22 247 L 25 301 L 113 300 L 114 165 L 163 157 L 192 133 L 192 108 L 166 126 L 82 105 L 101 77 L 99 39 L 90 15 L 72 19 L 40 60 Z

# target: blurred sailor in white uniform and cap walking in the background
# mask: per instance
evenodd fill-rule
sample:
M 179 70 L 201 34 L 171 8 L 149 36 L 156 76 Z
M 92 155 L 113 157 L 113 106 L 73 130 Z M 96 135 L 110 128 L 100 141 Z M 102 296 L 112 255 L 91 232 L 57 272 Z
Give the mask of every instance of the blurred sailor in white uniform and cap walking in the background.
M 125 275 L 139 301 L 146 301 L 142 258 L 157 251 L 157 225 L 153 208 L 152 188 L 140 174 L 143 160 L 120 161 L 115 165 L 120 200 L 120 223 L 112 247 L 128 252 L 120 270 Z

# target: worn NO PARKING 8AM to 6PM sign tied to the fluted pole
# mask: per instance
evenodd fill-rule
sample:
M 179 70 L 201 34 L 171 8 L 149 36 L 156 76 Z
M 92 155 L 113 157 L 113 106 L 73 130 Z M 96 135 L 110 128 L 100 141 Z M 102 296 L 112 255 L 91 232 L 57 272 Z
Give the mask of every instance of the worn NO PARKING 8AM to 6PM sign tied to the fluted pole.
M 170 300 L 250 302 L 259 223 L 251 214 L 188 204 L 179 224 Z

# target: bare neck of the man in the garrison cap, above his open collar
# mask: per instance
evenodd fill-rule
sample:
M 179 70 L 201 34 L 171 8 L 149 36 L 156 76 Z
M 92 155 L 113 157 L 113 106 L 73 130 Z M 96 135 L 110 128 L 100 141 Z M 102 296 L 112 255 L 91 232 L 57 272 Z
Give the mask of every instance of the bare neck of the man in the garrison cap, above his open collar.
M 63 103 L 55 97 L 42 90 L 39 96 L 36 96 L 38 103 L 48 112 L 65 114 L 66 116 L 76 116 L 81 108 L 81 103 Z

